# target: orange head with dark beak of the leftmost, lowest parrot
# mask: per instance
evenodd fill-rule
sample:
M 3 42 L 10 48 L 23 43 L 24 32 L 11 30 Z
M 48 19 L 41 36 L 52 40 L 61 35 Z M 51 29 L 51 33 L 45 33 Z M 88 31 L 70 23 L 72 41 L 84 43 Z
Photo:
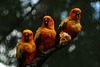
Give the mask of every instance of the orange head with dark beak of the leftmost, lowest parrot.
M 24 42 L 29 42 L 29 41 L 33 40 L 33 32 L 28 29 L 24 30 L 21 40 Z

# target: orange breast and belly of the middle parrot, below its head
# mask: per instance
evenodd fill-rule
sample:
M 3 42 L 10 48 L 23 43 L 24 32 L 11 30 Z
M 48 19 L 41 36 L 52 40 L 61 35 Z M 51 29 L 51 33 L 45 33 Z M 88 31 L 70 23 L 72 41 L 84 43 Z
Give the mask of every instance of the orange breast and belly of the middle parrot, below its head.
M 44 28 L 42 31 L 42 42 L 39 46 L 40 51 L 46 51 L 55 44 L 56 32 L 55 30 L 49 30 Z

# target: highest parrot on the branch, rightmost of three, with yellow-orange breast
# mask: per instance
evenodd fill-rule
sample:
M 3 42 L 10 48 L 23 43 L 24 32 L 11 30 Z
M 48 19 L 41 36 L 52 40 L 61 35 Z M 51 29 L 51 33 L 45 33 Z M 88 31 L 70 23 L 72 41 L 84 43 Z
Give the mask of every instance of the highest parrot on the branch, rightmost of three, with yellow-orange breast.
M 70 38 L 71 36 L 71 39 L 75 38 L 82 29 L 82 26 L 80 24 L 80 19 L 81 19 L 81 10 L 79 8 L 72 9 L 69 17 L 64 19 L 58 27 L 57 37 L 56 37 L 57 41 L 60 40 L 61 38 L 60 34 L 62 33 L 68 33 L 68 37 Z

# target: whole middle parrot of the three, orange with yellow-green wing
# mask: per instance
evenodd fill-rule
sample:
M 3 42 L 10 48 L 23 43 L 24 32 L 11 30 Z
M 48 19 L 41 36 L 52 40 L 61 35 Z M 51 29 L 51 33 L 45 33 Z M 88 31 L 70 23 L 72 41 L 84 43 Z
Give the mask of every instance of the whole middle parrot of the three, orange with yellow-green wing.
M 54 20 L 50 16 L 44 16 L 41 27 L 36 31 L 34 41 L 37 45 L 37 52 L 44 52 L 54 46 L 56 31 Z

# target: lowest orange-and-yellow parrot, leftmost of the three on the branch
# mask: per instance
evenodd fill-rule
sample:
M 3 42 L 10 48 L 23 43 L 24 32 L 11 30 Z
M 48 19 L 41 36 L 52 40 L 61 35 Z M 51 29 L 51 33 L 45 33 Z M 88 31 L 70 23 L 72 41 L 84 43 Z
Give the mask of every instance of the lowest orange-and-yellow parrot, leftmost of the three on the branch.
M 16 46 L 16 58 L 19 67 L 34 60 L 36 55 L 36 45 L 33 41 L 33 32 L 31 30 L 24 30 L 20 43 Z

